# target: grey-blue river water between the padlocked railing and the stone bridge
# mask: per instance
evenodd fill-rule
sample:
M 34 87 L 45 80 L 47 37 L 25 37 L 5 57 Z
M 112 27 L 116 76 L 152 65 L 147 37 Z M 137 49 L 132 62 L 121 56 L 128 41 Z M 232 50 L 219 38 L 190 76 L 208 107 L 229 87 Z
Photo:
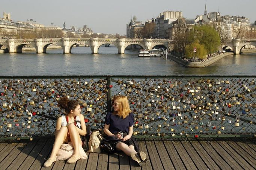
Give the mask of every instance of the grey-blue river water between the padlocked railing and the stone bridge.
M 47 49 L 46 54 L 24 51 L 0 54 L 0 76 L 20 75 L 255 75 L 256 53 L 229 55 L 205 68 L 185 68 L 163 57 L 141 58 L 138 52 L 100 47 L 91 54 L 89 47 Z

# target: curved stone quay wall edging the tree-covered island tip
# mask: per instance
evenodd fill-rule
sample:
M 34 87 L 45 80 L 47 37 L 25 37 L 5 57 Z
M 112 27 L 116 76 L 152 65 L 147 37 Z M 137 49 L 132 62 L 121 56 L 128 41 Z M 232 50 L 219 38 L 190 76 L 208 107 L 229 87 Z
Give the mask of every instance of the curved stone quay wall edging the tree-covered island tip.
M 217 54 L 217 55 L 213 56 L 210 59 L 207 59 L 205 61 L 200 61 L 200 62 L 184 61 L 180 57 L 172 55 L 172 54 L 168 54 L 167 58 L 169 58 L 172 61 L 175 61 L 182 67 L 201 68 L 201 67 L 207 67 L 207 66 L 211 65 L 212 63 L 214 63 L 228 55 L 234 55 L 234 54 L 233 54 L 233 52 L 221 53 L 221 54 Z

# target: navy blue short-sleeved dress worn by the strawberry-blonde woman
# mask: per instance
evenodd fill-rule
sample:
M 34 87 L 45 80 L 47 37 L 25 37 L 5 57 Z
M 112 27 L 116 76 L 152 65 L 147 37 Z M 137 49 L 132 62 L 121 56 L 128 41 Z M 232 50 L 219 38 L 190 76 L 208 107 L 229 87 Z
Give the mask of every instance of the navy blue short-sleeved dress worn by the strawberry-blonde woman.
M 117 134 L 117 132 L 122 131 L 123 136 L 126 136 L 129 132 L 129 127 L 132 127 L 134 123 L 134 115 L 130 113 L 125 119 L 120 118 L 117 115 L 114 115 L 113 112 L 108 112 L 105 118 L 105 124 L 110 125 L 108 130 L 113 133 Z M 110 143 L 116 148 L 116 144 L 119 142 L 123 142 L 120 139 L 117 139 L 113 136 L 105 136 L 105 143 Z M 135 151 L 139 152 L 139 145 L 134 137 L 124 141 L 126 145 L 134 146 Z

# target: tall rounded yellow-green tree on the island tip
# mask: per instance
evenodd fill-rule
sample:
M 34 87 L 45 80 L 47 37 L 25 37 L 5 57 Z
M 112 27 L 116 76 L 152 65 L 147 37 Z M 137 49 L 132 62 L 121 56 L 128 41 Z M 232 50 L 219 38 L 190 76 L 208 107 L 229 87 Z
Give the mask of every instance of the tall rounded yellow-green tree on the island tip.
M 194 36 L 200 45 L 204 45 L 207 54 L 218 51 L 218 47 L 220 46 L 220 37 L 213 27 L 194 27 Z

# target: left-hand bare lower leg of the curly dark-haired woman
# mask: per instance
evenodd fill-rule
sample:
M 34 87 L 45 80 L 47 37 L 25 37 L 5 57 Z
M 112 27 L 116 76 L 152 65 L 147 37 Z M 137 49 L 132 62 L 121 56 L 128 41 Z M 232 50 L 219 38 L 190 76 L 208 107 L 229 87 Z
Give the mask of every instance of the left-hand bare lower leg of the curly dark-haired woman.
M 55 141 L 53 144 L 53 150 L 51 151 L 50 158 L 56 159 L 56 154 L 62 143 L 65 141 L 68 134 L 68 128 L 63 126 L 60 128 L 59 132 L 56 134 Z

